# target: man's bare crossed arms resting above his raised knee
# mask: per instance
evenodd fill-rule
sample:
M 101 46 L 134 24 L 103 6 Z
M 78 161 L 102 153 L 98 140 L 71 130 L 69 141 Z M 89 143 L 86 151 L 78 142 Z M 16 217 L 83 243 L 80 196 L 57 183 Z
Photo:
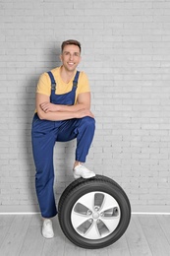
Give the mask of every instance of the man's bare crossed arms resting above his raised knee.
M 94 117 L 90 111 L 90 93 L 80 94 L 75 105 L 53 104 L 49 96 L 36 94 L 36 111 L 40 119 L 50 121 Z

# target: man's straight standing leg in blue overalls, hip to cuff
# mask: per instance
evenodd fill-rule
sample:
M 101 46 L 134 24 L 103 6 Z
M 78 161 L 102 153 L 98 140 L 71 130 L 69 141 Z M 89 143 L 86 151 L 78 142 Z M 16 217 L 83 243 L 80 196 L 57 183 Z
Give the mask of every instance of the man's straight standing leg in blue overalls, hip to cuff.
M 43 218 L 52 218 L 57 214 L 53 192 L 55 136 L 50 127 L 52 125 L 54 125 L 53 122 L 35 119 L 31 133 L 33 158 L 36 167 L 35 187 Z

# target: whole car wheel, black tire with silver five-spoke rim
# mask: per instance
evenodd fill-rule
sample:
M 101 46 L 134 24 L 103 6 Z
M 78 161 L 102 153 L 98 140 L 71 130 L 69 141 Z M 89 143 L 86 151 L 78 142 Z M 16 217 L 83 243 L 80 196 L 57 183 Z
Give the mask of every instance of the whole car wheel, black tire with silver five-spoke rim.
M 131 220 L 129 199 L 114 180 L 96 175 L 73 181 L 62 193 L 58 219 L 77 246 L 99 249 L 116 242 Z

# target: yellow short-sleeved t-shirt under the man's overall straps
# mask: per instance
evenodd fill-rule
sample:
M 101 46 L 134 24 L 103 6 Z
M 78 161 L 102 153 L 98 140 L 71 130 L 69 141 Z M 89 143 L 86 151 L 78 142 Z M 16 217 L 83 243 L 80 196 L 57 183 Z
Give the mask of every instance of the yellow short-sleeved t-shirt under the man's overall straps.
M 72 91 L 73 88 L 73 80 L 75 78 L 76 72 L 69 83 L 65 83 L 62 81 L 60 76 L 61 67 L 52 69 L 51 72 L 54 76 L 56 82 L 56 95 L 64 95 Z M 78 88 L 76 90 L 75 103 L 77 102 L 78 96 L 83 93 L 90 92 L 89 83 L 85 72 L 80 72 L 79 80 L 78 80 Z M 43 73 L 39 81 L 37 83 L 36 93 L 50 96 L 51 95 L 51 80 L 47 73 Z

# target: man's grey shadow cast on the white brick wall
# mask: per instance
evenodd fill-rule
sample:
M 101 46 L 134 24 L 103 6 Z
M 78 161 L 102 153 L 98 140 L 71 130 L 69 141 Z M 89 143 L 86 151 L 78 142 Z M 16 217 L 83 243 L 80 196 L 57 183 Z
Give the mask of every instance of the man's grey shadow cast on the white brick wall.
M 34 114 L 34 109 L 35 109 L 35 91 L 36 91 L 36 85 L 39 79 L 39 76 L 43 72 L 47 72 L 55 67 L 58 67 L 61 65 L 59 55 L 60 55 L 60 49 L 57 48 L 52 48 L 49 51 L 48 55 L 44 56 L 44 67 L 45 69 L 38 69 L 40 70 L 39 74 L 35 74 L 32 76 L 32 78 L 28 81 L 28 84 L 26 85 L 26 93 L 23 95 L 23 99 L 25 100 L 25 108 L 23 109 L 23 116 L 24 116 L 24 141 L 25 145 L 27 148 L 27 156 L 26 156 L 26 170 L 28 172 L 28 184 L 26 186 L 28 187 L 28 202 L 29 205 L 31 205 L 31 208 L 33 212 L 38 212 L 38 205 L 37 205 L 37 199 L 36 199 L 36 193 L 35 193 L 35 187 L 34 187 L 34 175 L 35 175 L 35 167 L 34 167 L 34 162 L 32 158 L 32 148 L 31 148 L 31 122 L 32 122 L 32 117 Z M 48 58 L 47 58 L 48 56 Z M 59 147 L 61 146 L 60 144 L 58 145 Z M 73 144 L 72 143 L 66 143 L 61 146 L 63 148 L 67 148 L 67 150 L 64 150 L 64 159 L 67 160 L 69 155 L 70 155 L 70 150 L 69 148 L 73 149 Z M 72 151 L 71 149 L 71 151 Z M 61 176 L 61 180 L 63 180 L 63 187 L 66 186 L 67 180 L 66 180 L 66 169 L 64 165 L 60 162 L 63 158 L 63 150 L 56 150 L 57 151 L 57 156 L 55 155 L 55 160 L 56 160 L 56 168 L 58 169 L 57 175 Z M 54 151 L 55 154 L 55 151 Z M 68 155 L 68 156 L 67 156 Z M 55 165 L 55 160 L 54 160 L 54 165 Z M 58 165 L 59 164 L 59 165 Z M 62 165 L 62 167 L 61 167 Z M 61 183 L 60 177 L 58 182 Z M 64 184 L 65 183 L 65 184 Z M 59 188 L 59 190 L 61 190 Z M 60 193 L 60 191 L 57 193 Z

